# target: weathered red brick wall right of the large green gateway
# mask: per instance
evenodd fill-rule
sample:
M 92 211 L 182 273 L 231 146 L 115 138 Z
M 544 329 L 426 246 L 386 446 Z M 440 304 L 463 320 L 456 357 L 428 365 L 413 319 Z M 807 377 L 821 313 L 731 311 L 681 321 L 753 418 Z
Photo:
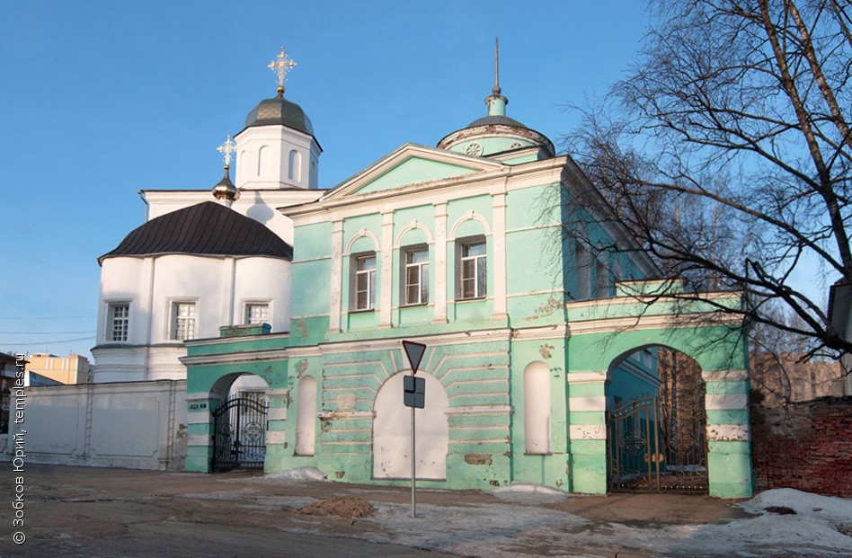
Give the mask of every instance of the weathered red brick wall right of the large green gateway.
M 755 489 L 852 497 L 852 396 L 751 407 Z

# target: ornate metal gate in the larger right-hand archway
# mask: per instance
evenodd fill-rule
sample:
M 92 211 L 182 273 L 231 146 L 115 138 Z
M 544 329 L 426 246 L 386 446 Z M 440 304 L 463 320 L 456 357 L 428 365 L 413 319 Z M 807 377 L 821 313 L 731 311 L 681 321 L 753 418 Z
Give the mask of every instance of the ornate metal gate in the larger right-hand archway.
M 608 412 L 610 491 L 707 492 L 704 409 L 688 420 L 637 397 Z

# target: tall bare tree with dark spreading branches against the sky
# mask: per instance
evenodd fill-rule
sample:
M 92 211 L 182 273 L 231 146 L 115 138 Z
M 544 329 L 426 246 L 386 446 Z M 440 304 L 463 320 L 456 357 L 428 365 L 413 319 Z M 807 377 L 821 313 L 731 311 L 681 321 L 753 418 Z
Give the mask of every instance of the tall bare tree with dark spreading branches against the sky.
M 689 293 L 739 289 L 750 323 L 805 336 L 811 354 L 852 352 L 802 285 L 852 284 L 852 4 L 650 9 L 639 62 L 566 138 L 602 194 L 581 202 Z

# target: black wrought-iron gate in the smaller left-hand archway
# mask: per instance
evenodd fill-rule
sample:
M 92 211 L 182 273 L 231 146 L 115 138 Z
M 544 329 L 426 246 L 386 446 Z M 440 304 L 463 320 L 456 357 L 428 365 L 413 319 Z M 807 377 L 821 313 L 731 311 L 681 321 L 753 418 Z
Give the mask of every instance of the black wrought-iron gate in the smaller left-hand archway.
M 212 412 L 214 472 L 263 468 L 268 413 L 269 405 L 252 397 L 234 397 Z

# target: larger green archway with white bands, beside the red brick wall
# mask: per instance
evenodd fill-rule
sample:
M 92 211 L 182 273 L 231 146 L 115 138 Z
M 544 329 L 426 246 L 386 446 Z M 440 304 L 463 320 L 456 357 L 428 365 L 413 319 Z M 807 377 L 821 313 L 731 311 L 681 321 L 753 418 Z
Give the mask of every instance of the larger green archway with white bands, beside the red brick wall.
M 695 359 L 706 390 L 706 473 L 711 496 L 752 493 L 748 349 L 737 293 L 686 297 L 670 282 L 619 284 L 617 297 L 569 303 L 568 408 L 572 490 L 608 492 L 612 470 L 609 386 L 626 354 L 663 346 Z M 667 295 L 661 295 L 667 293 Z M 653 429 L 648 430 L 653 435 Z M 661 459 L 648 458 L 653 468 Z M 645 457 L 647 458 L 647 457 Z

